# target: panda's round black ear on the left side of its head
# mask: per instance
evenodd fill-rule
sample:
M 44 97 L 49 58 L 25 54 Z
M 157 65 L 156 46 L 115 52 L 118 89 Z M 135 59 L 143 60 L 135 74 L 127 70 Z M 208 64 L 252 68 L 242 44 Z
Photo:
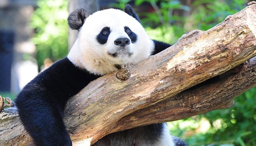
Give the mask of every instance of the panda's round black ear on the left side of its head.
M 79 30 L 90 14 L 84 8 L 79 8 L 73 11 L 68 16 L 68 25 L 72 30 Z

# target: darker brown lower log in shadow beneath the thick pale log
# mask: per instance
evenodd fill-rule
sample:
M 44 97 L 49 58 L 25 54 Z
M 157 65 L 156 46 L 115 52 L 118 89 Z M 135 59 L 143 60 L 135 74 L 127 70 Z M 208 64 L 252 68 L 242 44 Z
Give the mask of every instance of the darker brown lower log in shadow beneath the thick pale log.
M 256 86 L 256 57 L 221 76 L 189 88 L 167 100 L 120 119 L 111 132 L 230 108 L 233 99 Z M 154 115 L 154 116 L 152 116 Z

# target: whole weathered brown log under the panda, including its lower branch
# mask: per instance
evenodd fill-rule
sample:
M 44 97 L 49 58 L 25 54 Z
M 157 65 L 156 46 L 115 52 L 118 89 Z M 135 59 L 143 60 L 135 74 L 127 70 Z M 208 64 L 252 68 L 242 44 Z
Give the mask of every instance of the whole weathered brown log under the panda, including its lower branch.
M 229 108 L 236 96 L 256 85 L 255 58 L 246 62 L 256 55 L 255 16 L 256 3 L 251 2 L 210 30 L 189 32 L 169 49 L 140 62 L 130 69 L 128 80 L 112 73 L 91 82 L 64 111 L 73 145 Z M 0 145 L 31 145 L 19 118 L 6 117 L 0 122 Z

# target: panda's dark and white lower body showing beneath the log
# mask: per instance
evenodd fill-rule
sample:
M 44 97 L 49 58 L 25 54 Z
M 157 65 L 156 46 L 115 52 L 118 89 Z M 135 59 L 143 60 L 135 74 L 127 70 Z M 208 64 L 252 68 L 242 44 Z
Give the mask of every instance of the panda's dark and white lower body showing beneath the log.
M 174 144 L 175 139 L 166 123 L 159 123 L 106 135 L 93 146 L 183 146 Z

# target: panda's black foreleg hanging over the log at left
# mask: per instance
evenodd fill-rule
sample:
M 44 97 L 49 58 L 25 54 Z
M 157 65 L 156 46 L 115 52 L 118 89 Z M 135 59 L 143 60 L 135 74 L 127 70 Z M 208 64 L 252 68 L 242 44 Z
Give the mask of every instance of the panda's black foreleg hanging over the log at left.
M 99 76 L 76 67 L 67 57 L 30 81 L 16 98 L 20 119 L 37 146 L 71 146 L 63 122 L 69 98 Z

